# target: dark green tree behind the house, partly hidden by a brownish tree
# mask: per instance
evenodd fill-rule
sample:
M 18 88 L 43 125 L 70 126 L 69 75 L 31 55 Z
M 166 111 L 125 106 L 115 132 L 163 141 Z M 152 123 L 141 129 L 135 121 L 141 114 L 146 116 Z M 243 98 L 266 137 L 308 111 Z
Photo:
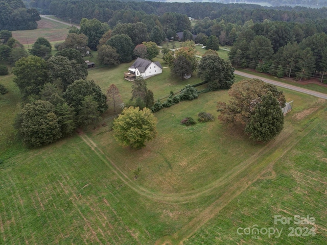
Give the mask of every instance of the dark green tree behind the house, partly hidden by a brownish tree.
M 120 55 L 120 62 L 130 62 L 133 59 L 134 44 L 126 34 L 114 35 L 108 42 L 108 45 L 114 47 Z

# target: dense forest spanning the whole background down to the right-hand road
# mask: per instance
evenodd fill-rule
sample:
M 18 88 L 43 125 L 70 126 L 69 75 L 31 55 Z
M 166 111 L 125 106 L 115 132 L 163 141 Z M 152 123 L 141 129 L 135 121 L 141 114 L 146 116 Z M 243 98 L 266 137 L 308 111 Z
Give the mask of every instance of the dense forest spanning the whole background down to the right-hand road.
M 172 40 L 176 32 L 183 32 L 185 40 L 209 45 L 208 41 L 215 37 L 219 45 L 231 46 L 229 59 L 236 67 L 278 77 L 324 80 L 326 8 L 105 0 L 33 0 L 29 4 L 40 9 L 49 7 L 50 14 L 77 23 L 88 19 L 90 30 L 99 30 L 97 35 L 90 35 L 83 28 L 75 35 L 85 34 L 91 50 L 97 50 L 101 36 L 109 29 L 109 37 L 126 35 L 133 47 L 149 40 L 159 44 L 166 38 Z M 191 25 L 189 16 L 198 20 Z

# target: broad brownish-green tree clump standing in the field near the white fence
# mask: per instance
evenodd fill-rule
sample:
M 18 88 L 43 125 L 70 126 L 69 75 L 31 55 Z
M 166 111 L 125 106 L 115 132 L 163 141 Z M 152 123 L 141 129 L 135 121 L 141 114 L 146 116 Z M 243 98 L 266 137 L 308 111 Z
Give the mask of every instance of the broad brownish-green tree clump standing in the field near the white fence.
M 281 132 L 284 117 L 280 117 L 279 111 L 285 106 L 283 91 L 260 79 L 248 79 L 233 84 L 228 94 L 231 97 L 228 103 L 218 103 L 218 119 L 222 122 L 243 125 L 245 132 L 259 141 L 269 140 Z M 271 117 L 265 119 L 272 111 Z

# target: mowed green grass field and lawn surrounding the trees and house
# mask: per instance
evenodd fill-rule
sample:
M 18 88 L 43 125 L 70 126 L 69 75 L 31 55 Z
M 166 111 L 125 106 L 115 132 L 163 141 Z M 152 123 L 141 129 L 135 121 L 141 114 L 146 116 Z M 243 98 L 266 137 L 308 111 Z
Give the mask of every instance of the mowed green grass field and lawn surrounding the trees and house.
M 123 72 L 131 63 L 97 66 L 88 79 L 104 92 L 116 84 L 127 103 L 131 82 Z M 0 244 L 325 243 L 325 100 L 283 89 L 293 110 L 283 132 L 268 143 L 253 142 L 217 119 L 179 124 L 200 111 L 217 118 L 216 103 L 229 99 L 221 90 L 155 113 L 158 135 L 141 150 L 119 146 L 111 120 L 26 149 L 12 126 L 20 101 L 12 79 L 0 78 L 9 89 L 0 97 Z M 157 100 L 200 79 L 179 81 L 165 68 L 146 81 Z M 108 110 L 104 119 L 113 114 Z M 143 168 L 135 179 L 131 170 L 138 165 Z M 316 235 L 288 236 L 297 226 L 274 225 L 274 215 L 310 215 L 315 224 L 300 227 L 314 227 Z M 237 233 L 254 225 L 284 230 L 278 238 Z

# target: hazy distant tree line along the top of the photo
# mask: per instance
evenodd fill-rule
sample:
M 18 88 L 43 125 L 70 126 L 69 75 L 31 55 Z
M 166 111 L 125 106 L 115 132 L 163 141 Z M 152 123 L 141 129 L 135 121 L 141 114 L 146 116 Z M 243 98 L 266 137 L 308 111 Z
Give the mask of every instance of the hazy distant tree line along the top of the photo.
M 327 14 L 324 8 L 265 8 L 251 4 L 108 2 L 105 0 L 53 0 L 49 5 L 49 11 L 52 15 L 72 18 L 77 22 L 82 18 L 97 18 L 102 22 L 108 22 L 111 27 L 114 27 L 117 21 L 137 22 L 142 21 L 147 15 L 162 16 L 168 12 L 185 14 L 196 19 L 204 17 L 225 19 L 238 24 L 244 24 L 250 19 L 254 22 L 262 22 L 264 19 L 285 20 L 285 14 L 288 16 L 287 21 L 316 20 L 325 18 Z

